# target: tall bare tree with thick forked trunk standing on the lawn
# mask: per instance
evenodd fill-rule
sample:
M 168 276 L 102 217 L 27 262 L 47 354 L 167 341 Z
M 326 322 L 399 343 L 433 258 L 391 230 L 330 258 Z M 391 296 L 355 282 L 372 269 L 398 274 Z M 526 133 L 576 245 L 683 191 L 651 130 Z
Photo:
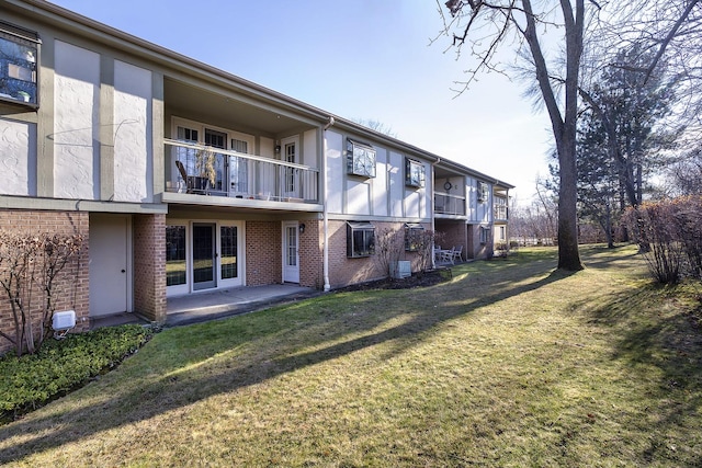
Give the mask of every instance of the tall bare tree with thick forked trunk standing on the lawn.
M 531 0 L 449 0 L 445 5 L 451 18 L 444 16 L 444 31 L 453 37 L 452 45 L 458 53 L 468 47 L 477 59 L 466 85 L 478 72 L 498 69 L 496 54 L 500 48 L 516 44 L 517 54 L 521 52 L 530 59 L 558 155 L 558 267 L 577 271 L 582 263 L 577 236 L 576 124 L 586 4 L 585 0 L 559 0 L 557 7 L 553 2 L 539 4 L 542 10 L 535 11 Z M 597 3 L 590 4 L 598 9 Z M 559 73 L 552 72 L 558 65 L 547 62 L 540 35 L 544 28 L 562 34 L 565 57 L 558 64 Z

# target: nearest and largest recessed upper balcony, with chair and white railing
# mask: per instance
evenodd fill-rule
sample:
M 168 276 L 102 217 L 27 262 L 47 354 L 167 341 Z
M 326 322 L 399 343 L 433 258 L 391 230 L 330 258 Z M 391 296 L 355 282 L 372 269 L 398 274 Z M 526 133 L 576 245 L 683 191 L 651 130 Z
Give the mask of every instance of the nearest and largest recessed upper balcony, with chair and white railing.
M 216 83 L 165 78 L 162 201 L 321 210 L 316 116 L 246 83 Z

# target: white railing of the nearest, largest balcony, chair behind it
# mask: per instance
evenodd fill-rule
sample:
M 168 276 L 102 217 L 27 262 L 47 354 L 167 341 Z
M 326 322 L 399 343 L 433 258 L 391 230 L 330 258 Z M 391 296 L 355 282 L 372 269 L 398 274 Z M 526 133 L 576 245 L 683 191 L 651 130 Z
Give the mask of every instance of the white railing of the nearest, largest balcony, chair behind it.
M 171 139 L 166 159 L 168 192 L 319 203 L 319 171 L 307 165 Z

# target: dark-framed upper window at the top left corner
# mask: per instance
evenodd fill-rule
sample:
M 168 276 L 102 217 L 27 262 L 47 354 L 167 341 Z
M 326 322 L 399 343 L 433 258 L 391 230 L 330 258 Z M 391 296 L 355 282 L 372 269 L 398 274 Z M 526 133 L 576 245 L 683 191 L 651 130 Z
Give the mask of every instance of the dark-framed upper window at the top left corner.
M 38 104 L 36 33 L 0 21 L 0 99 Z

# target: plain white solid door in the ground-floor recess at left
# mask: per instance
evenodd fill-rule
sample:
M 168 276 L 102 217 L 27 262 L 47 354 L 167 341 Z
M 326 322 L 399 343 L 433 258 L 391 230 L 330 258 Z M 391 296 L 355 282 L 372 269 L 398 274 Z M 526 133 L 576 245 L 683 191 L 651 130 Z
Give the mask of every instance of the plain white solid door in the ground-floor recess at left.
M 90 317 L 129 307 L 129 218 L 90 215 Z

